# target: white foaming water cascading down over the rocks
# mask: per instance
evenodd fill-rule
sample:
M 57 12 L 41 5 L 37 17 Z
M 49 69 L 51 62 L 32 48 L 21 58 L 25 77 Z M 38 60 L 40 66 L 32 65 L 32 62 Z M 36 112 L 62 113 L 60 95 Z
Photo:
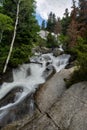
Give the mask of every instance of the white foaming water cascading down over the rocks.
M 20 88 L 19 92 L 15 93 L 14 101 L 0 107 L 0 120 L 14 106 L 20 104 L 28 95 L 35 92 L 39 84 L 43 84 L 49 76 L 48 70 L 52 67 L 56 72 L 59 72 L 67 64 L 70 55 L 62 54 L 54 57 L 52 53 L 39 54 L 33 56 L 29 64 L 23 64 L 19 68 L 13 70 L 13 82 L 3 83 L 0 87 L 0 101 L 3 100 L 13 89 Z M 30 107 L 33 109 L 33 101 L 30 102 Z

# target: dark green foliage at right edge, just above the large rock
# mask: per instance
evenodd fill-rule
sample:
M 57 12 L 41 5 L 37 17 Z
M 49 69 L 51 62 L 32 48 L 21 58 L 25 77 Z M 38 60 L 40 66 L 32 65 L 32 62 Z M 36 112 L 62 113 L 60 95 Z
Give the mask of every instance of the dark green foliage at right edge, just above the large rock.
M 67 82 L 67 87 L 80 81 L 87 81 L 87 44 L 84 42 L 86 42 L 84 39 L 79 38 L 78 45 L 72 49 L 72 52 L 77 55 L 77 69 Z

